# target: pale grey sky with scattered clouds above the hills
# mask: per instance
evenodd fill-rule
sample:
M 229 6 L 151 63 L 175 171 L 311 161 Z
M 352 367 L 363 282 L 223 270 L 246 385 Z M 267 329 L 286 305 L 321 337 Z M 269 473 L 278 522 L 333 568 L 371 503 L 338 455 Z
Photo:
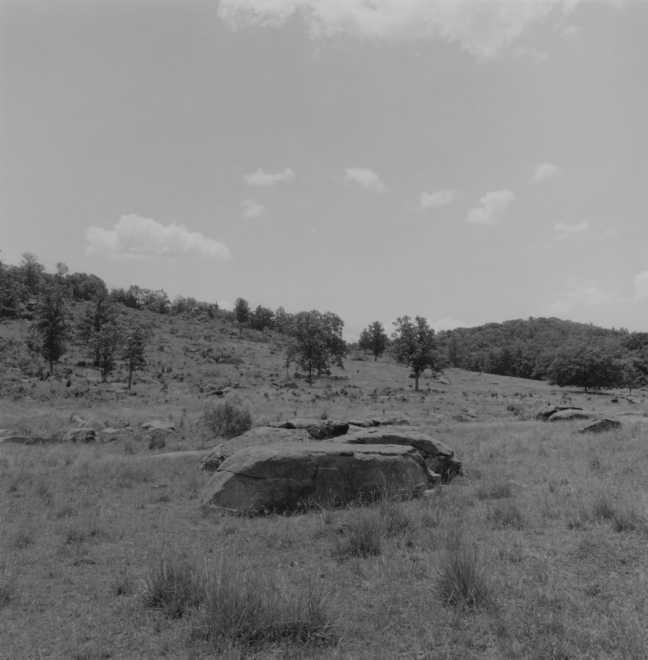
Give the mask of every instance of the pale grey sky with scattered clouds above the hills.
M 0 0 L 0 257 L 345 337 L 648 330 L 648 2 Z

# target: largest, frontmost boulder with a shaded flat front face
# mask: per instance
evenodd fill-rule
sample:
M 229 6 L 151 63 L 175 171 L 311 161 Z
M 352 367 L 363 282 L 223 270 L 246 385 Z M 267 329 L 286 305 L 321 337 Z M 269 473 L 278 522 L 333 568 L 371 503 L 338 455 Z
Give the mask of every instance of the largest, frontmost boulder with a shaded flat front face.
M 229 457 L 203 488 L 200 502 L 253 513 L 293 509 L 314 498 L 344 502 L 361 493 L 422 492 L 434 481 L 413 447 L 283 443 Z

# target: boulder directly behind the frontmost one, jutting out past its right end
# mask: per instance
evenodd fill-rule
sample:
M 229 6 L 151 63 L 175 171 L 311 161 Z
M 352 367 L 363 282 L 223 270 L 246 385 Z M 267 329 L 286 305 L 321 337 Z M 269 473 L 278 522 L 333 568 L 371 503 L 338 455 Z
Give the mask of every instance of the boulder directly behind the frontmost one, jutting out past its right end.
M 427 467 L 433 473 L 441 475 L 443 480 L 447 481 L 453 475 L 461 473 L 461 461 L 456 459 L 454 451 L 426 433 L 370 428 L 350 433 L 336 442 L 365 445 L 408 445 L 414 447 L 423 457 Z

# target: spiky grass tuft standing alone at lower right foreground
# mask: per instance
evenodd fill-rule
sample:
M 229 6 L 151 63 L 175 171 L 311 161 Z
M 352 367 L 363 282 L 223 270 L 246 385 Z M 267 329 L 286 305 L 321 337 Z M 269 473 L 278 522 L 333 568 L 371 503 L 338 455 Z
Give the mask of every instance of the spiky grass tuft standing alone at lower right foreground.
M 491 587 L 484 575 L 485 566 L 461 543 L 453 543 L 435 571 L 434 589 L 446 605 L 480 609 L 493 603 Z

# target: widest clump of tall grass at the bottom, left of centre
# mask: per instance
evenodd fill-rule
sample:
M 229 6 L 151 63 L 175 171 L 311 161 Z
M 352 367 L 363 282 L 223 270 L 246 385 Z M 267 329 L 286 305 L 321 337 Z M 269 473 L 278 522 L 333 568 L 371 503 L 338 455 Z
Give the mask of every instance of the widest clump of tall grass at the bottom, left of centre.
M 336 616 L 322 587 L 310 579 L 305 589 L 281 588 L 273 579 L 221 563 L 208 576 L 196 632 L 222 647 L 239 644 L 336 641 Z

